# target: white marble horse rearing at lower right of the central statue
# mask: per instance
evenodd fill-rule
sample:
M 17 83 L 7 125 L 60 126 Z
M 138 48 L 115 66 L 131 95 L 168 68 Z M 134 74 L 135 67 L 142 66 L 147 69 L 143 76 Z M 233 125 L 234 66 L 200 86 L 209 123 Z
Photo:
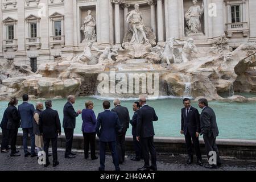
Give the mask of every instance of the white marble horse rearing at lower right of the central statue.
M 170 65 L 171 62 L 175 63 L 174 42 L 175 38 L 167 39 L 166 43 L 164 43 L 164 51 L 161 52 L 163 55 L 163 60 L 166 61 L 168 65 Z

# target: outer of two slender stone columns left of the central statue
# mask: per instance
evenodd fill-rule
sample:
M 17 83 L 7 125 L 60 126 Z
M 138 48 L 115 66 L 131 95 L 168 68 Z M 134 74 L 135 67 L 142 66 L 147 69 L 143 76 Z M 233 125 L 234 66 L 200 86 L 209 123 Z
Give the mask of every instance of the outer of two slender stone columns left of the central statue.
M 120 0 L 113 0 L 112 1 L 115 5 L 115 44 L 121 44 L 121 28 L 120 28 L 120 11 L 119 11 L 119 4 Z

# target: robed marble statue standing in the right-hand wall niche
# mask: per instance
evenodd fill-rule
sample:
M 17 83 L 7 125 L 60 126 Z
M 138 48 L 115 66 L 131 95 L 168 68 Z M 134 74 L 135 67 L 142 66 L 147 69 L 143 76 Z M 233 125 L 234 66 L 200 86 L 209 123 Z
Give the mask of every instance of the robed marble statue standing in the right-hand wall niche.
M 202 7 L 197 5 L 197 0 L 193 0 L 193 6 L 189 7 L 187 13 L 185 13 L 185 20 L 187 27 L 185 28 L 186 36 L 203 34 L 201 30 L 201 16 L 204 13 L 204 1 Z

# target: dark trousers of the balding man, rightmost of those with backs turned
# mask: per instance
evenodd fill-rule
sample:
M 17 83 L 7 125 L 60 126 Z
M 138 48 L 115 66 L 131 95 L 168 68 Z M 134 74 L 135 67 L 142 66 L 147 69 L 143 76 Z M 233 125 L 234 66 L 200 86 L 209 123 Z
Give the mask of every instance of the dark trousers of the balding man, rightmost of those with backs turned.
M 144 159 L 144 167 L 149 168 L 149 152 L 151 154 L 151 166 L 156 168 L 156 152 L 154 146 L 154 137 L 141 138 L 142 155 Z

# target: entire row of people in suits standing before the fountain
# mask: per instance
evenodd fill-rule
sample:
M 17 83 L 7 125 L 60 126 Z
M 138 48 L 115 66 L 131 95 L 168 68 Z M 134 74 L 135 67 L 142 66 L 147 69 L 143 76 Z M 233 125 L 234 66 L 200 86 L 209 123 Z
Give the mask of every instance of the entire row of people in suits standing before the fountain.
M 52 109 L 52 101 L 45 102 L 44 109 L 42 102 L 36 103 L 36 109 L 28 103 L 28 95 L 23 95 L 23 103 L 18 105 L 16 98 L 11 98 L 7 109 L 3 114 L 1 122 L 2 144 L 1 152 L 9 152 L 11 156 L 20 156 L 16 150 L 16 138 L 19 127 L 23 131 L 23 150 L 24 156 L 38 156 L 39 151 L 46 152 L 46 164 L 49 166 L 48 148 L 49 143 L 52 145 L 53 167 L 59 165 L 57 160 L 57 138 L 61 135 L 61 124 L 59 114 Z M 98 159 L 96 156 L 96 134 L 99 138 L 100 145 L 100 171 L 105 170 L 105 152 L 108 145 L 112 153 L 115 170 L 119 171 L 119 164 L 125 162 L 125 136 L 129 123 L 132 126 L 133 143 L 135 157 L 131 160 L 144 160 L 144 166 L 138 168 L 138 171 L 157 170 L 156 151 L 154 146 L 154 121 L 158 121 L 158 116 L 153 107 L 147 105 L 146 97 L 141 96 L 138 102 L 133 104 L 133 118 L 130 119 L 127 107 L 121 105 L 121 101 L 114 100 L 114 108 L 110 110 L 110 102 L 104 101 L 102 106 L 104 111 L 99 113 L 97 118 L 93 111 L 94 104 L 92 101 L 85 102 L 85 109 L 75 111 L 75 96 L 68 96 L 67 103 L 63 108 L 63 128 L 65 133 L 65 158 L 76 158 L 72 152 L 73 133 L 76 127 L 76 117 L 81 114 L 82 117 L 82 134 L 84 136 L 84 158 L 92 160 Z M 199 100 L 199 107 L 203 109 L 201 114 L 191 106 L 191 100 L 184 98 L 184 108 L 181 109 L 181 134 L 185 136 L 188 159 L 187 164 L 193 162 L 193 147 L 197 156 L 197 164 L 203 166 L 199 136 L 203 135 L 205 150 L 208 158 L 210 151 L 215 151 L 217 164 L 206 164 L 207 168 L 221 166 L 218 148 L 216 146 L 216 137 L 218 136 L 218 127 L 216 115 L 208 106 L 208 101 L 204 98 Z M 30 135 L 31 152 L 28 152 L 27 139 Z M 11 148 L 9 148 L 9 142 Z M 193 145 L 192 145 L 193 143 Z M 36 151 L 35 151 L 36 147 Z M 150 155 L 151 165 L 150 165 Z

